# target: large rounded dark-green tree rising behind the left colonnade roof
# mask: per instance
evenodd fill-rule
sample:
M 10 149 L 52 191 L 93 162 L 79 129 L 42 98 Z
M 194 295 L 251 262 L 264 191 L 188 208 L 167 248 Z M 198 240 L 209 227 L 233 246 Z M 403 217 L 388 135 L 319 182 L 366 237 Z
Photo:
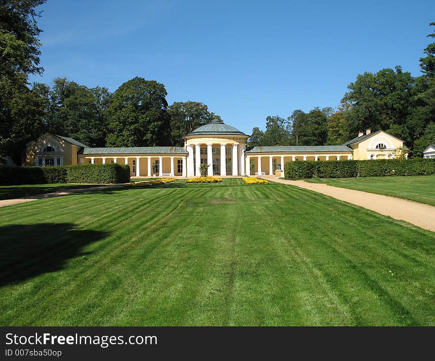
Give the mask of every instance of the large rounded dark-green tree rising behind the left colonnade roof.
M 107 146 L 167 145 L 171 124 L 166 89 L 154 80 L 135 77 L 122 84 L 108 109 Z

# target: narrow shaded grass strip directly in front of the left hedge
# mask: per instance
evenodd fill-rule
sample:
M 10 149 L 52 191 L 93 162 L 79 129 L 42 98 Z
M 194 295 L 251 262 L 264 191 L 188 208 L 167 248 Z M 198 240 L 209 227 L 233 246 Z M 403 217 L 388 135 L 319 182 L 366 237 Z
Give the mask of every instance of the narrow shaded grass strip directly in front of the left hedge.
M 29 195 L 52 193 L 65 189 L 94 187 L 95 184 L 25 184 L 25 185 L 0 185 L 0 200 L 27 197 Z

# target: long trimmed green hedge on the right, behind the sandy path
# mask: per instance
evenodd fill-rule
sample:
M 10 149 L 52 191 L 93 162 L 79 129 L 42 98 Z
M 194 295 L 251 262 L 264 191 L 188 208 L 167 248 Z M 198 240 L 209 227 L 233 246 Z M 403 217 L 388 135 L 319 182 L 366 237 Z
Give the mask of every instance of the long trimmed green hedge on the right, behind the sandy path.
M 429 176 L 435 174 L 435 159 L 378 159 L 296 161 L 284 165 L 286 179 Z

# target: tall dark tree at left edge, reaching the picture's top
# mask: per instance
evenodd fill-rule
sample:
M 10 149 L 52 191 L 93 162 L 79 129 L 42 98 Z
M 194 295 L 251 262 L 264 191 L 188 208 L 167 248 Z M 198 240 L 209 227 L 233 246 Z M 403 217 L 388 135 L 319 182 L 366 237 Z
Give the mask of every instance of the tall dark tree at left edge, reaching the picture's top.
M 29 74 L 42 74 L 35 10 L 45 0 L 0 2 L 0 163 L 9 154 L 21 162 L 27 141 L 43 127 L 43 103 L 27 87 Z

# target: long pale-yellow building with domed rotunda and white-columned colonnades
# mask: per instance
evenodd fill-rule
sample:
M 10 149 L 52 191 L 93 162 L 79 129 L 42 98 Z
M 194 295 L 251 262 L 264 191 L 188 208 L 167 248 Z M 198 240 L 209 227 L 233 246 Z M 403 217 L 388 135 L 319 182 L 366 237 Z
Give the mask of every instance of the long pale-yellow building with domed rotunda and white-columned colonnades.
M 184 136 L 183 147 L 104 147 L 91 148 L 72 138 L 46 133 L 26 147 L 27 166 L 56 166 L 77 163 L 122 163 L 130 166 L 132 176 L 199 176 L 201 164 L 208 175 L 284 176 L 284 164 L 305 160 L 392 159 L 403 140 L 383 131 L 359 135 L 343 145 L 256 146 L 247 147 L 249 135 L 220 119 Z

